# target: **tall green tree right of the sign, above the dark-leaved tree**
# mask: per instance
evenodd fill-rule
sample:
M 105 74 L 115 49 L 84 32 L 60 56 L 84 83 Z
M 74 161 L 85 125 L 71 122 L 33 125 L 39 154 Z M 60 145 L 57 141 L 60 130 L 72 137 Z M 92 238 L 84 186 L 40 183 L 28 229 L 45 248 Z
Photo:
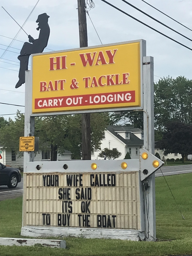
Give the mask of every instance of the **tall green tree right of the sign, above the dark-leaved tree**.
M 165 130 L 167 120 L 192 123 L 192 80 L 161 78 L 154 85 L 155 128 Z

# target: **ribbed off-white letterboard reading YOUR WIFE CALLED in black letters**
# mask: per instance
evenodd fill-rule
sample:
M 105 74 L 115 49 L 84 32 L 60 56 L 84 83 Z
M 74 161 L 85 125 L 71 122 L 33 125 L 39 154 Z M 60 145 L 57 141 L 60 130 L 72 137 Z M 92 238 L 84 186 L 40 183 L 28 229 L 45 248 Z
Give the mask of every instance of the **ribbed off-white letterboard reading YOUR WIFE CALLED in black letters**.
M 24 174 L 24 226 L 140 229 L 139 173 Z

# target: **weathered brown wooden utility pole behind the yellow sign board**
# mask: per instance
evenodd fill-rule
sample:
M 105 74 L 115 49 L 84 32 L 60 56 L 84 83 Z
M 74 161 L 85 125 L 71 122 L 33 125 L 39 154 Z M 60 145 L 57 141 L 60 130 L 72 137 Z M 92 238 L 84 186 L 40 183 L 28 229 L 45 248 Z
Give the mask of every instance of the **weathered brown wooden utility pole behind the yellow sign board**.
M 85 0 L 77 0 L 79 18 L 80 47 L 88 46 Z M 91 160 L 91 122 L 90 113 L 82 114 L 82 160 Z

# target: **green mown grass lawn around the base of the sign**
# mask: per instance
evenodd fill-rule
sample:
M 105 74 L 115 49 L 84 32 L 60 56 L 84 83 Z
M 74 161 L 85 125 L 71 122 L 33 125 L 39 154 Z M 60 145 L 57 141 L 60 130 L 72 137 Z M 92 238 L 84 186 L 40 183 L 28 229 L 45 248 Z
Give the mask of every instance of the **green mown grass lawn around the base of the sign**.
M 1 256 L 160 256 L 192 254 L 192 173 L 166 177 L 172 193 L 185 217 L 182 216 L 163 177 L 156 181 L 156 229 L 158 239 L 172 241 L 132 242 L 110 239 L 67 237 L 67 248 L 41 246 L 0 246 Z M 20 237 L 22 197 L 0 202 L 0 236 Z

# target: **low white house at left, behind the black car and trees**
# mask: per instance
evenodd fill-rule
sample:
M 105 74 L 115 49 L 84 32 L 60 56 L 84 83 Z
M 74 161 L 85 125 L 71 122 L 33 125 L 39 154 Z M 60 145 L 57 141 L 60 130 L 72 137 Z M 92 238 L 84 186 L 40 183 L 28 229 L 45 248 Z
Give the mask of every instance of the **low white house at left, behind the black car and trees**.
M 23 155 L 20 153 L 15 154 L 15 151 L 6 151 L 3 147 L 0 146 L 1 155 L 3 155 L 0 162 L 6 165 L 10 165 L 15 168 L 23 168 Z M 72 153 L 68 150 L 65 150 L 63 154 L 57 154 L 57 161 L 61 160 L 71 160 Z M 35 155 L 34 161 L 51 161 L 51 151 L 39 151 Z

